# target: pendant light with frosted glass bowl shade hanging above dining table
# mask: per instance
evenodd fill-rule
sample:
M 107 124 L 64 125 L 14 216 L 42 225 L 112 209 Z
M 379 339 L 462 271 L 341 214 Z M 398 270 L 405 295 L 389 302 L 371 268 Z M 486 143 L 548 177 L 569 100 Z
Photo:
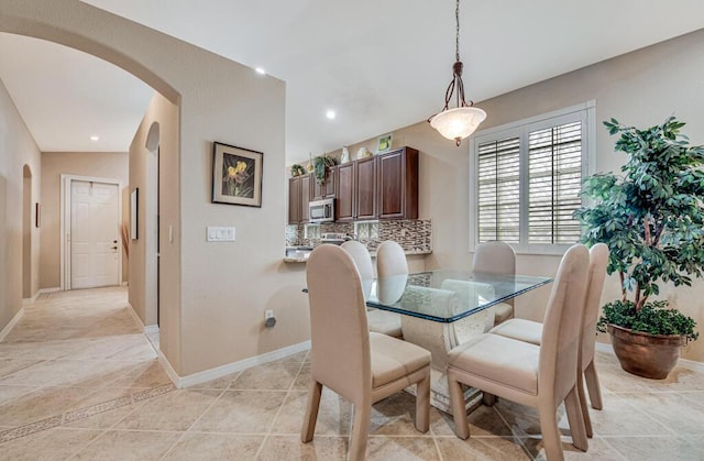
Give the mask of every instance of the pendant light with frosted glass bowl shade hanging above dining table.
M 444 94 L 444 107 L 440 113 L 428 119 L 430 127 L 438 130 L 440 134 L 460 146 L 463 139 L 474 133 L 474 130 L 486 119 L 486 112 L 482 109 L 472 107 L 474 102 L 469 103 L 464 100 L 464 84 L 462 83 L 462 62 L 460 61 L 460 0 L 455 0 L 457 7 L 454 18 L 457 20 L 457 36 L 454 42 L 454 61 L 452 65 L 452 81 L 448 86 Z M 454 90 L 457 94 L 457 107 L 450 109 L 450 100 Z

